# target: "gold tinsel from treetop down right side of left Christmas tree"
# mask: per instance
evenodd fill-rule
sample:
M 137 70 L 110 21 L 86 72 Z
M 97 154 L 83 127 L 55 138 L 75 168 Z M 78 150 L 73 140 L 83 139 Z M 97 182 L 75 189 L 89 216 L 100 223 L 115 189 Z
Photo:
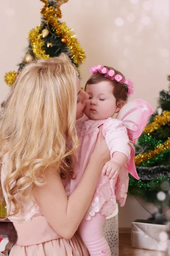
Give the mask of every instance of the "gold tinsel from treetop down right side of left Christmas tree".
M 77 41 L 76 35 L 72 31 L 72 29 L 68 28 L 65 22 L 61 23 L 58 21 L 58 19 L 62 17 L 59 6 L 63 3 L 63 1 L 61 1 L 62 3 L 57 4 L 56 9 L 53 6 L 50 6 L 48 8 L 47 0 L 41 1 L 45 3 L 45 6 L 41 10 L 41 14 L 46 20 L 46 23 L 51 24 L 53 29 L 56 30 L 57 35 L 60 35 L 63 38 L 67 39 L 67 47 L 71 52 L 71 58 L 77 65 L 82 64 L 82 62 L 85 60 L 84 49 L 80 46 L 79 42 Z M 64 2 L 68 2 L 68 0 L 65 0 Z

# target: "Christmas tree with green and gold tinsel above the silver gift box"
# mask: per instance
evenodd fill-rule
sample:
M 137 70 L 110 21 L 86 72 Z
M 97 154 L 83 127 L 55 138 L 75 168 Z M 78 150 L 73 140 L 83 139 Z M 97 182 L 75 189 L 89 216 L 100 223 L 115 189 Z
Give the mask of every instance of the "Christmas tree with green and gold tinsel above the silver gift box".
M 170 76 L 168 76 L 170 81 Z M 159 93 L 159 108 L 150 116 L 136 145 L 136 170 L 129 194 L 161 207 L 170 206 L 170 85 Z

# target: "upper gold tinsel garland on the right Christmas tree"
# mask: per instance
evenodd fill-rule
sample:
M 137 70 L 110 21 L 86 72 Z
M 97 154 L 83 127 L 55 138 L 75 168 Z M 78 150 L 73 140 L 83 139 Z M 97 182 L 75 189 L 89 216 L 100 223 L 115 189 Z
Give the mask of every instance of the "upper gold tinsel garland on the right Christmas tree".
M 156 115 L 153 122 L 144 127 L 144 133 L 149 135 L 153 131 L 157 130 L 161 125 L 165 125 L 168 122 L 170 122 L 170 111 L 165 110 L 161 116 Z

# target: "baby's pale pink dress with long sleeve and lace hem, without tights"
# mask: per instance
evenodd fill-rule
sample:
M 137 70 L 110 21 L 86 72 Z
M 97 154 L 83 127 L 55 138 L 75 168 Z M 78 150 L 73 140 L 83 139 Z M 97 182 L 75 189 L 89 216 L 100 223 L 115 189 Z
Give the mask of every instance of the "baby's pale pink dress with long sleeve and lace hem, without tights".
M 114 152 L 118 151 L 124 153 L 127 160 L 130 159 L 129 137 L 124 122 L 111 117 L 104 120 L 91 120 L 84 115 L 77 120 L 77 134 L 81 144 L 77 151 L 78 161 L 74 166 L 76 179 L 71 180 L 65 189 L 68 196 L 74 192 L 85 172 L 94 150 L 100 125 L 103 125 L 102 133 L 111 152 L 111 157 L 113 157 Z M 107 176 L 100 175 L 94 197 L 85 214 L 86 221 L 90 221 L 96 212 L 100 212 L 106 217 L 110 216 L 115 210 L 116 198 L 119 200 L 120 206 L 124 206 L 127 198 L 128 181 L 128 172 L 125 167 L 120 170 L 116 180 L 109 180 Z

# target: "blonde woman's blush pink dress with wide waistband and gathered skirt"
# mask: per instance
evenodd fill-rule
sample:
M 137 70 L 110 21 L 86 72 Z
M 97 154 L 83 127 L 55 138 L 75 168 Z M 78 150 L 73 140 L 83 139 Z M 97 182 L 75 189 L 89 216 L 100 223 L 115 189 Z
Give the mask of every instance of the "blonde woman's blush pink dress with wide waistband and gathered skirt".
M 6 177 L 6 156 L 3 158 L 1 184 Z M 66 180 L 63 180 L 64 187 Z M 7 210 L 7 195 L 3 189 Z M 34 198 L 33 198 L 34 199 Z M 64 239 L 57 234 L 42 215 L 37 204 L 31 200 L 23 204 L 18 199 L 20 212 L 9 218 L 17 230 L 17 243 L 12 247 L 10 256 L 88 256 L 85 244 L 77 232 L 71 239 Z M 11 207 L 12 212 L 13 206 Z M 57 218 L 57 216 L 56 216 Z

